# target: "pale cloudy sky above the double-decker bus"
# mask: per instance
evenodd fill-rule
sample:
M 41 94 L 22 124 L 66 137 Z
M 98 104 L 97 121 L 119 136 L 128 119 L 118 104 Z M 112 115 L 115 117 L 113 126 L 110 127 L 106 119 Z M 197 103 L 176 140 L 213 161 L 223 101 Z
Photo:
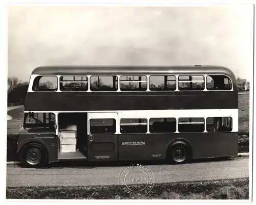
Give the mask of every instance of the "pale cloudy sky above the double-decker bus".
M 45 65 L 220 65 L 252 71 L 253 6 L 10 6 L 8 76 Z

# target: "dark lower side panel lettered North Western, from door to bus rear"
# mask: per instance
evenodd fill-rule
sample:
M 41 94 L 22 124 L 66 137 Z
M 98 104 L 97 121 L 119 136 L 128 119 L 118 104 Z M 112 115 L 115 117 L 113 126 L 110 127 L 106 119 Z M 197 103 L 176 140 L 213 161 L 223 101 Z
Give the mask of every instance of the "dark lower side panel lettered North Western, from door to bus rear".
M 190 145 L 193 159 L 233 156 L 238 153 L 238 136 L 235 132 L 133 134 L 119 135 L 119 160 L 164 160 L 168 146 L 175 141 L 184 141 Z

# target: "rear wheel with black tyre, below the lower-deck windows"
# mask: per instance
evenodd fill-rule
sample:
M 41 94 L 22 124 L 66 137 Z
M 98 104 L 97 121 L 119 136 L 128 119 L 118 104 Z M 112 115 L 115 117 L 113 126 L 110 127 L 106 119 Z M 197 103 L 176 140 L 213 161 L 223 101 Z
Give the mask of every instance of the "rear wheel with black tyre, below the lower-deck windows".
M 182 143 L 172 145 L 167 151 L 168 160 L 176 164 L 184 164 L 190 161 L 190 155 L 189 147 Z

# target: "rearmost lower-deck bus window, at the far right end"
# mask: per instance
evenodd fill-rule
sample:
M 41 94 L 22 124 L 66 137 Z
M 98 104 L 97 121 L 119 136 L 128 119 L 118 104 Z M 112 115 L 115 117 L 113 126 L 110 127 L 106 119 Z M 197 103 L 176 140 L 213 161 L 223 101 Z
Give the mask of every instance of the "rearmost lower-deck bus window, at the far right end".
M 208 117 L 206 119 L 207 132 L 231 132 L 231 117 Z

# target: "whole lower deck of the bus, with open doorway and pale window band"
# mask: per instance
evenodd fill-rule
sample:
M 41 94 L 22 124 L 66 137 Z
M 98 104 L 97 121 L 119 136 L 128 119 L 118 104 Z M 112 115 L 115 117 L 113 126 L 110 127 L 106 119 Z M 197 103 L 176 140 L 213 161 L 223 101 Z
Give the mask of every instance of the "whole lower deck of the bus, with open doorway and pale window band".
M 236 155 L 237 115 L 237 109 L 27 113 L 19 139 L 23 141 L 24 136 L 27 141 L 44 146 L 42 153 L 47 152 L 49 163 L 60 160 L 184 163 Z M 18 151 L 28 166 L 42 161 L 34 146 L 24 147 L 20 143 Z

